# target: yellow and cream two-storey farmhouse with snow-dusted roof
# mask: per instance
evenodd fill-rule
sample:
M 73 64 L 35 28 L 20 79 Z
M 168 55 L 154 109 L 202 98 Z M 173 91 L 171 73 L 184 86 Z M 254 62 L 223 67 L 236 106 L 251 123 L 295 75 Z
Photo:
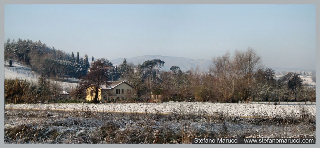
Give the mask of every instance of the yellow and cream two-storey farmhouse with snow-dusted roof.
M 92 87 L 87 88 L 86 100 L 91 101 L 95 96 Z M 98 100 L 102 102 L 125 99 L 133 94 L 133 87 L 125 81 L 108 81 L 107 85 L 101 85 L 98 92 Z M 101 100 L 102 99 L 102 100 Z

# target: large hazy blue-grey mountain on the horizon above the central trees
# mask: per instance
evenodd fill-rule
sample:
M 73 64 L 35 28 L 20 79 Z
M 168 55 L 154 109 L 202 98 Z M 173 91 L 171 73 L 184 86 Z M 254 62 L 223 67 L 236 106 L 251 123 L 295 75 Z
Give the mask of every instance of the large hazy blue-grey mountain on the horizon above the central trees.
M 118 58 L 110 60 L 113 65 L 120 65 L 123 62 L 124 58 Z M 161 70 L 169 71 L 170 67 L 178 66 L 182 71 L 187 71 L 191 67 L 196 68 L 199 66 L 200 70 L 207 70 L 208 67 L 212 64 L 210 60 L 193 60 L 183 57 L 171 57 L 171 56 L 161 56 L 161 55 L 143 55 L 137 56 L 133 58 L 129 58 L 127 62 L 132 62 L 134 65 L 138 65 L 139 63 L 142 64 L 146 60 L 153 60 L 153 59 L 160 59 L 164 61 L 164 67 Z

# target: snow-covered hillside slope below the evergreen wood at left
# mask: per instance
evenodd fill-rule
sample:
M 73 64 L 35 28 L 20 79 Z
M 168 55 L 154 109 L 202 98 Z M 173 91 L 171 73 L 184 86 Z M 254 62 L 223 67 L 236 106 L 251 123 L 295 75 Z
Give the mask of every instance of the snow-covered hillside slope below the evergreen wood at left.
M 6 62 L 9 63 L 8 61 Z M 26 79 L 28 81 L 31 81 L 32 83 L 36 83 L 38 81 L 39 75 L 32 71 L 30 67 L 25 66 L 21 63 L 18 63 L 16 61 L 12 61 L 13 67 L 4 67 L 4 78 L 20 78 L 20 79 Z M 72 79 L 74 81 L 77 81 L 76 79 Z M 68 83 L 68 82 L 59 82 L 63 89 L 70 89 L 72 87 L 76 87 L 76 83 Z

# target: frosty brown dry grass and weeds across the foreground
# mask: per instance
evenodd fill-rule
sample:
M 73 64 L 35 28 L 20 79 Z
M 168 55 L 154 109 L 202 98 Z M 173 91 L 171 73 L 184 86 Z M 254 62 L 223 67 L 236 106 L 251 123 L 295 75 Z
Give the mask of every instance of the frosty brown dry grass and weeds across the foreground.
M 305 109 L 305 108 L 303 108 Z M 172 114 L 81 111 L 5 111 L 5 143 L 191 143 L 205 137 L 292 137 L 315 135 L 307 110 L 300 117 L 240 118 L 196 109 Z

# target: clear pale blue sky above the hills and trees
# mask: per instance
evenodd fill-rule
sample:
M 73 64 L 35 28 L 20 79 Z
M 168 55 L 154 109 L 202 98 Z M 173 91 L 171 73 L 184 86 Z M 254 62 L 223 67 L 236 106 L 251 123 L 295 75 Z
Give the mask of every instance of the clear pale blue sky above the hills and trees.
M 254 49 L 266 67 L 316 69 L 316 6 L 4 5 L 4 39 L 41 40 L 91 58 L 212 60 Z

